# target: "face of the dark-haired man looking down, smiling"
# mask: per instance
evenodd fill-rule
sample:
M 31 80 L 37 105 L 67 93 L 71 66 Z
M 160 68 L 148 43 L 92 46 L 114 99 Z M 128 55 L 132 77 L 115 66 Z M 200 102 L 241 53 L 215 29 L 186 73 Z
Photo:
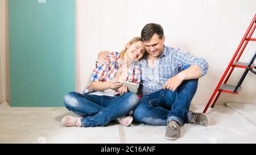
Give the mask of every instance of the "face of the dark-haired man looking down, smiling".
M 159 39 L 158 35 L 155 33 L 150 40 L 144 41 L 144 45 L 146 47 L 147 52 L 155 58 L 158 58 L 163 52 L 163 43 L 165 37 Z

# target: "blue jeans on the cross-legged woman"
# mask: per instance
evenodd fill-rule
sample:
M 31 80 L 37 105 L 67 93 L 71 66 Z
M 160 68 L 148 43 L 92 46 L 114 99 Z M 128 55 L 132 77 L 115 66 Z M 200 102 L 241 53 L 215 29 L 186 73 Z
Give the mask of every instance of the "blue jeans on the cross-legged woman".
M 138 104 L 139 98 L 134 93 L 125 93 L 117 97 L 106 97 L 76 92 L 64 96 L 65 107 L 81 115 L 83 127 L 104 126 L 110 121 L 129 114 Z

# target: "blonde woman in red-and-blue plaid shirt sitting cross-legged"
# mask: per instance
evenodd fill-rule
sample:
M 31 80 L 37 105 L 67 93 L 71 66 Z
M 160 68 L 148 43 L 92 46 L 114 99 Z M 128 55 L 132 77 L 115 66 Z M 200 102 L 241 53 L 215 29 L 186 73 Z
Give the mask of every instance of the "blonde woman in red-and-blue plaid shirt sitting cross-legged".
M 145 51 L 141 37 L 134 37 L 122 52 L 109 53 L 109 62 L 96 62 L 90 86 L 82 94 L 71 92 L 64 96 L 65 107 L 80 117 L 65 116 L 61 123 L 66 127 L 96 127 L 117 119 L 122 125 L 130 125 L 133 118 L 125 115 L 137 106 L 138 96 L 127 92 L 118 80 L 139 86 L 141 70 L 137 62 Z

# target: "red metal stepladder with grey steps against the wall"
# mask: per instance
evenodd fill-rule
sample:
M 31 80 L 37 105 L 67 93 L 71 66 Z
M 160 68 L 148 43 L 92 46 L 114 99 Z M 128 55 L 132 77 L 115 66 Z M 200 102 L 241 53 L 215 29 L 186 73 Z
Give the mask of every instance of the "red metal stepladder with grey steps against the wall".
M 218 94 L 212 103 L 212 106 L 211 106 L 212 108 L 214 107 L 218 97 L 220 97 L 221 92 L 230 93 L 230 94 L 239 94 L 239 91 L 242 88 L 241 84 L 242 84 L 243 79 L 245 78 L 246 74 L 248 73 L 248 71 L 251 71 L 254 74 L 256 74 L 256 72 L 253 70 L 254 68 L 256 69 L 255 65 L 253 64 L 255 57 L 256 57 L 256 52 L 249 63 L 238 62 L 246 45 L 248 44 L 248 42 L 256 41 L 255 38 L 251 38 L 255 28 L 256 28 L 256 14 L 254 15 L 253 20 L 251 20 L 250 26 L 248 27 L 247 31 L 245 32 L 245 35 L 243 36 L 243 39 L 241 40 L 236 52 L 234 53 L 234 56 L 232 57 L 231 61 L 229 62 L 229 65 L 226 68 L 223 76 L 221 77 L 220 82 L 218 82 L 216 89 L 213 91 L 212 97 L 210 97 L 209 102 L 207 103 L 207 106 L 205 106 L 203 113 L 207 112 L 210 104 L 212 103 L 213 98 L 217 94 L 217 91 L 218 91 Z M 235 59 L 236 59 L 236 61 L 235 61 Z M 234 68 L 245 68 L 246 70 L 243 73 L 243 76 L 241 77 L 237 86 L 226 85 L 226 82 L 228 82 L 229 77 L 231 76 Z M 230 72 L 229 72 L 229 70 L 230 70 Z M 229 74 L 228 74 L 228 72 L 229 72 Z M 228 76 L 226 77 L 227 74 L 228 74 Z M 226 79 L 225 79 L 225 77 L 226 77 Z M 225 81 L 224 81 L 224 79 L 225 79 Z M 223 81 L 224 81 L 224 83 L 222 83 Z

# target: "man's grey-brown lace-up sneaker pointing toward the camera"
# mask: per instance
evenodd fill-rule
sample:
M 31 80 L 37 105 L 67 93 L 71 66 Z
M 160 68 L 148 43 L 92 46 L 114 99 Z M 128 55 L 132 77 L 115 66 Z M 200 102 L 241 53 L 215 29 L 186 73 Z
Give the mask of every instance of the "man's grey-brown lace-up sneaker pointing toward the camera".
M 176 140 L 180 137 L 181 126 L 176 120 L 170 120 L 167 123 L 166 138 Z

